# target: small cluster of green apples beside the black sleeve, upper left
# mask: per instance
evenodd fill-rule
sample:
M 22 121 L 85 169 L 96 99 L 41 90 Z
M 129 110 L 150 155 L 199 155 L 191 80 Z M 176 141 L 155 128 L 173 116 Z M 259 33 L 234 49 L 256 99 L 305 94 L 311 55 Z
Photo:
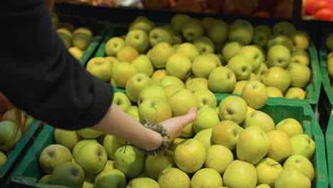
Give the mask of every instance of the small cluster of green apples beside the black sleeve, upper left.
M 51 14 L 51 18 L 58 36 L 68 48 L 68 51 L 75 59 L 80 60 L 91 41 L 93 41 L 93 32 L 90 28 L 75 28 L 72 23 L 60 23 L 60 19 L 55 13 Z

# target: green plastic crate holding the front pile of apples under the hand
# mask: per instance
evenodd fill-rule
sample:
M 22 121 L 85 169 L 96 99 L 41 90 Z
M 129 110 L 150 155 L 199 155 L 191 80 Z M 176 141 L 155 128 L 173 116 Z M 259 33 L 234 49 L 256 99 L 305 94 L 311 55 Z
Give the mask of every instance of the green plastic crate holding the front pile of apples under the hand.
M 220 95 L 217 100 L 221 101 L 227 96 L 229 95 Z M 310 135 L 314 142 L 316 142 L 316 150 L 314 152 L 314 157 L 312 157 L 312 162 L 315 169 L 315 176 L 312 182 L 312 187 L 328 187 L 324 135 L 320 130 L 319 124 L 310 105 L 306 104 L 296 106 L 289 105 L 287 103 L 275 103 L 273 101 L 269 102 L 261 110 L 273 117 L 275 124 L 287 117 L 295 118 L 301 122 L 302 127 L 305 130 L 305 134 Z M 26 154 L 23 162 L 21 162 L 15 170 L 14 177 L 11 179 L 11 188 L 41 186 L 46 188 L 56 187 L 54 185 L 36 183 L 36 180 L 40 179 L 44 175 L 38 165 L 38 157 L 46 146 L 54 143 L 53 132 L 53 127 L 46 126 L 45 132 L 42 132 L 40 135 L 38 135 L 36 142 L 28 150 L 28 153 Z

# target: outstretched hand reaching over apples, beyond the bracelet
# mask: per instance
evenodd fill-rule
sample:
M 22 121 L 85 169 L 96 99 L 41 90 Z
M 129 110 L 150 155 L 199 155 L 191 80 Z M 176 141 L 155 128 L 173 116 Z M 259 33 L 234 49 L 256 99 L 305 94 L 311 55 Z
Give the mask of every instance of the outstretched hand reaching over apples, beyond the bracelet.
M 176 137 L 179 137 L 179 135 L 181 135 L 181 129 L 186 125 L 189 125 L 191 122 L 194 122 L 194 120 L 196 120 L 196 108 L 191 108 L 186 115 L 173 117 L 161 122 L 170 134 L 169 142 L 172 142 Z

